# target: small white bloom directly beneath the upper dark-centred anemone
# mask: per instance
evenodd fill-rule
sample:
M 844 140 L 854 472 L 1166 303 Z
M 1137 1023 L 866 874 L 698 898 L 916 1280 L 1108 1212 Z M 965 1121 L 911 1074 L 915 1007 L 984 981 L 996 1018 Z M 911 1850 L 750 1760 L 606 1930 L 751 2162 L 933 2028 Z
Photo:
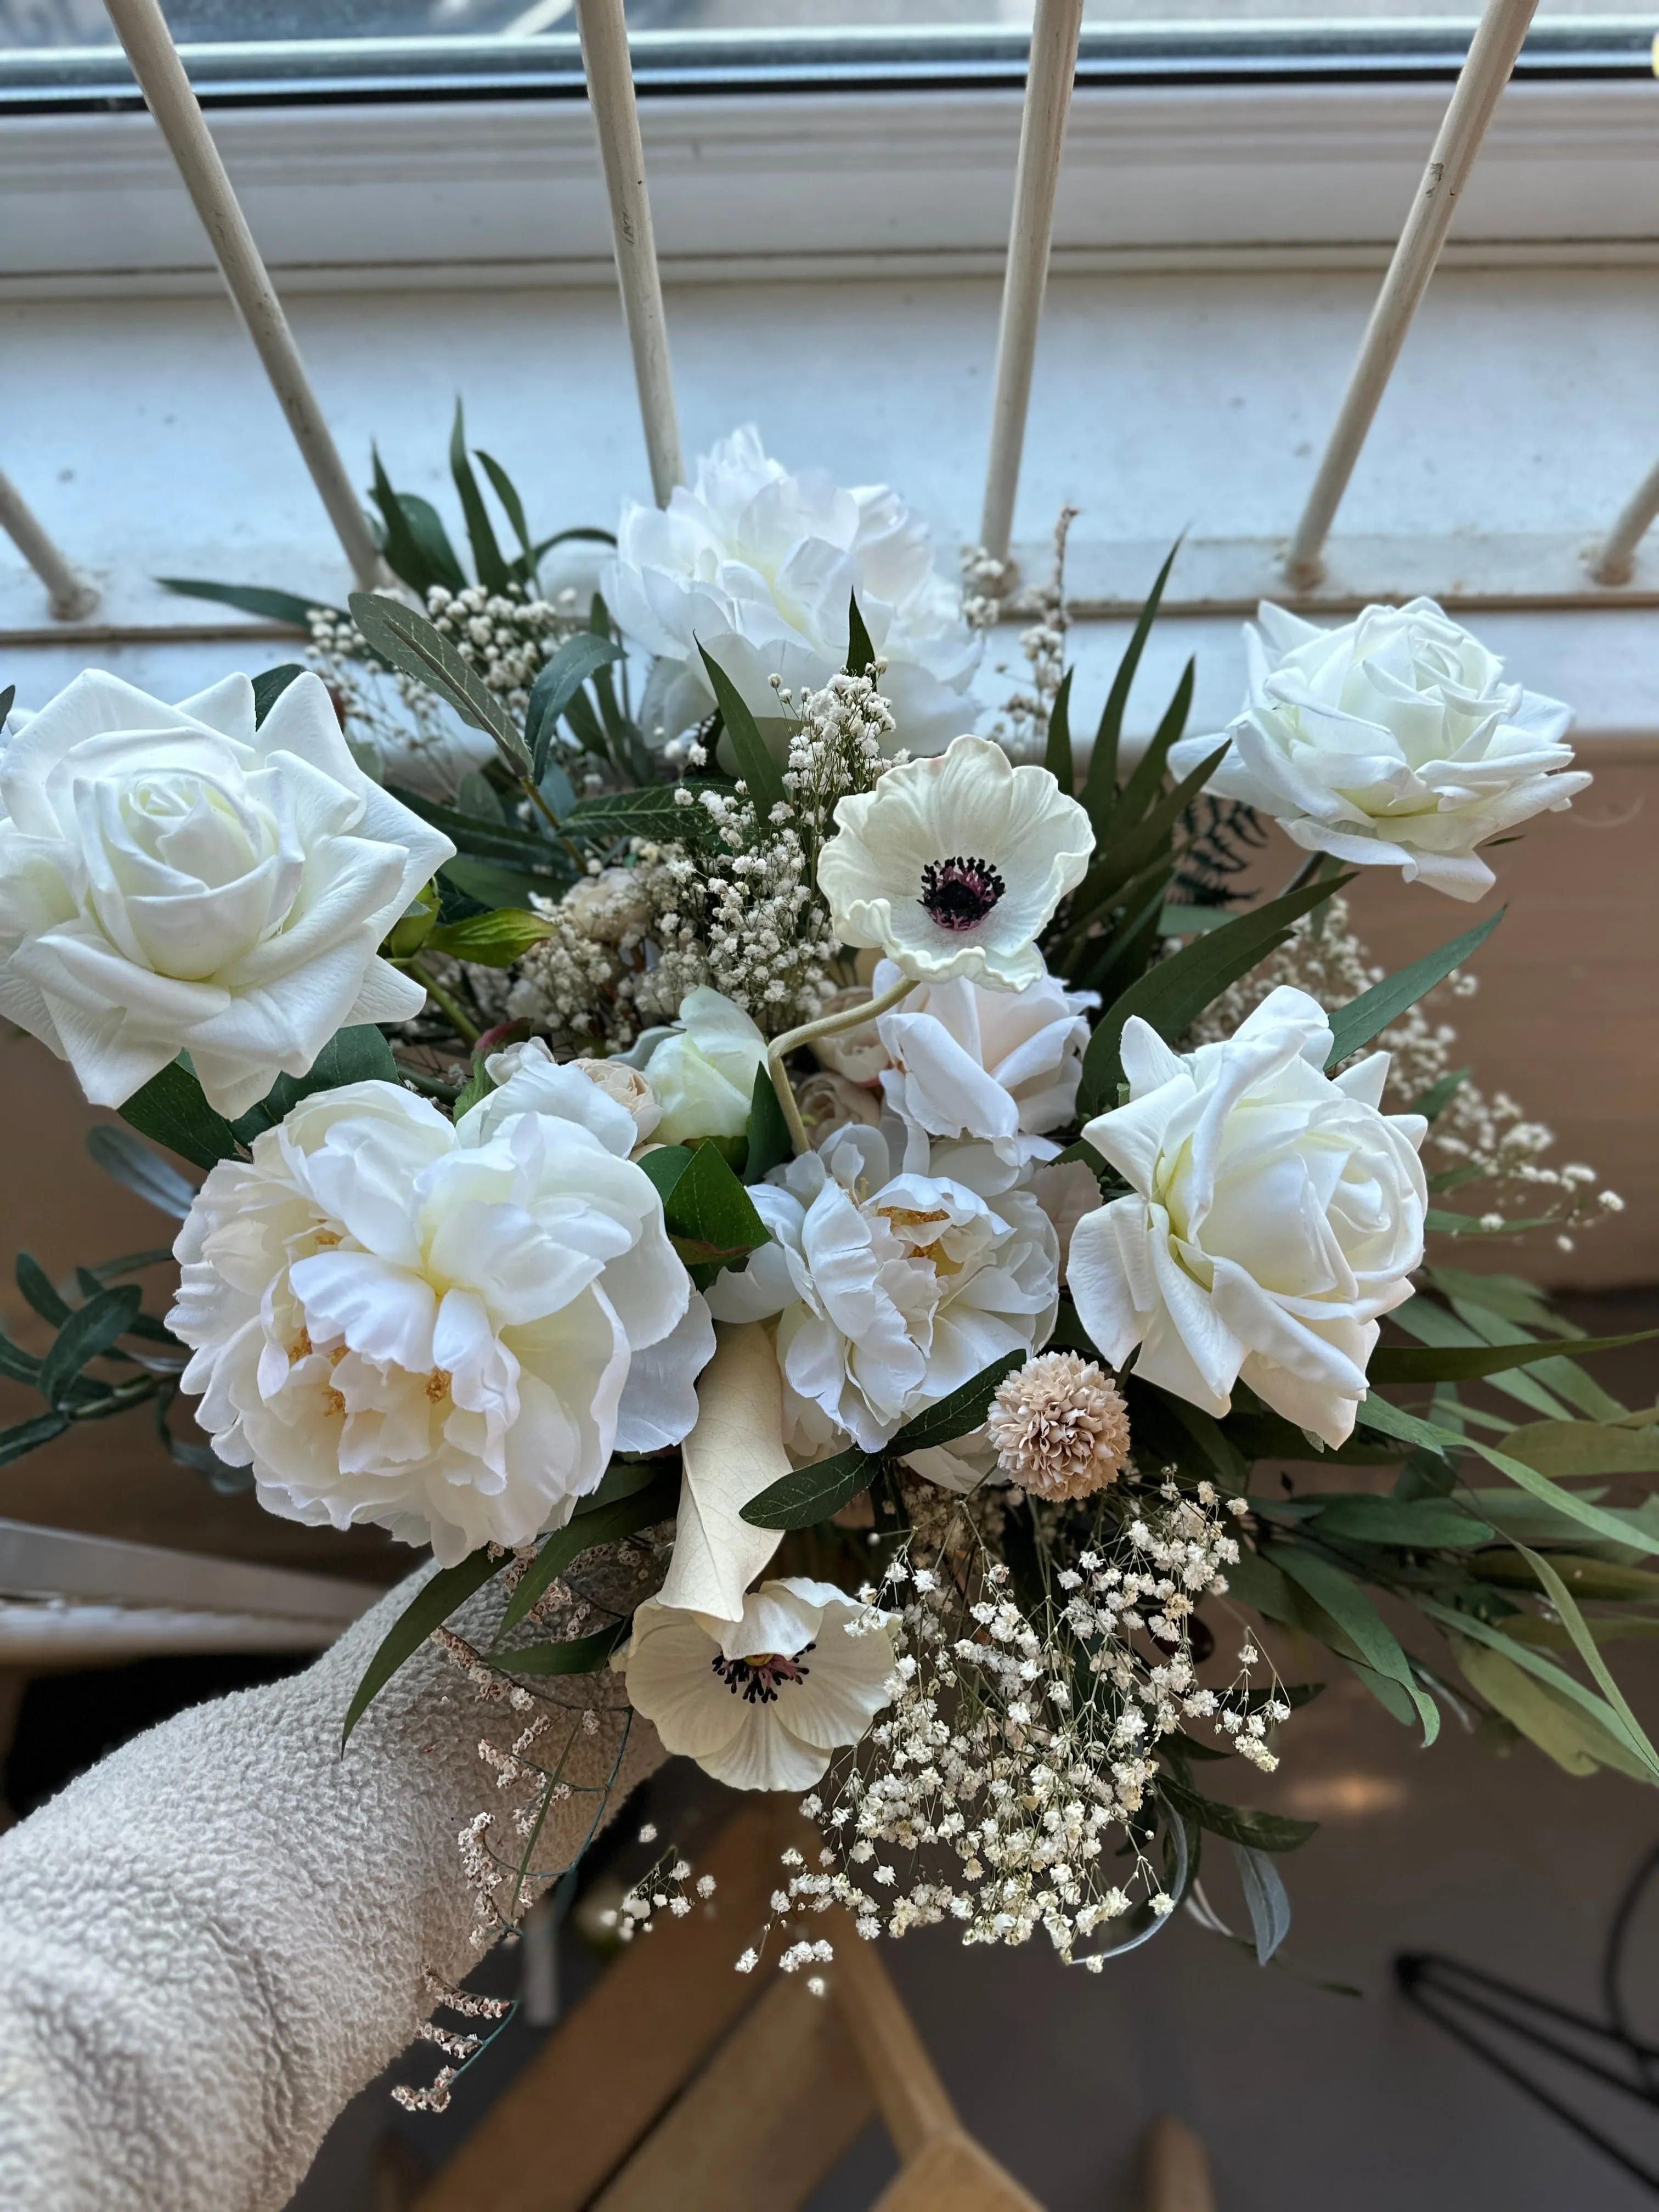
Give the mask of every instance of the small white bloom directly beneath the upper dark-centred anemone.
M 894 962 L 878 960 L 872 993 L 898 980 Z M 883 1095 L 929 1137 L 978 1137 L 1020 1168 L 1053 1159 L 1060 1146 L 1046 1133 L 1077 1110 L 1097 1004 L 1097 991 L 1068 991 L 1046 971 L 1022 991 L 927 982 L 876 1024 L 889 1055 Z

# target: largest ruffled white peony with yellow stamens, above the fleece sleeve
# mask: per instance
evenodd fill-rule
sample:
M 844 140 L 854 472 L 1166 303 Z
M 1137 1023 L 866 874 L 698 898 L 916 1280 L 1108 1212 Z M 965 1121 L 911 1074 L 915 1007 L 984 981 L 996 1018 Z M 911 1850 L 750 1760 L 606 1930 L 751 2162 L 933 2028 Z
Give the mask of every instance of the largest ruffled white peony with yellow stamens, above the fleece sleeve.
M 573 1066 L 507 1073 L 453 1126 L 394 1084 L 319 1091 L 197 1192 L 168 1325 L 272 1513 L 453 1566 L 695 1422 L 714 1332 L 633 1115 Z

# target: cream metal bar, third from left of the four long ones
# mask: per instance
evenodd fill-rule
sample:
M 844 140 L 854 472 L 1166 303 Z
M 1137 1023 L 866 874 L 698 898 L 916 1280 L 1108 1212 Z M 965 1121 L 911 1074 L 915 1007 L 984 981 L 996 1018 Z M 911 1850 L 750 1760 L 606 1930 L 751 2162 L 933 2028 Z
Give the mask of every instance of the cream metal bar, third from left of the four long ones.
M 1066 144 L 1082 20 L 1082 0 L 1037 0 L 1031 27 L 1026 104 L 1020 117 L 1020 166 L 1009 223 L 1009 268 L 1002 279 L 991 456 L 984 469 L 984 515 L 980 520 L 980 544 L 1000 562 L 1006 562 L 1013 535 L 1013 495 L 1020 489 L 1020 456 L 1031 411 L 1031 369 L 1037 358 L 1037 323 L 1048 281 L 1060 155 Z

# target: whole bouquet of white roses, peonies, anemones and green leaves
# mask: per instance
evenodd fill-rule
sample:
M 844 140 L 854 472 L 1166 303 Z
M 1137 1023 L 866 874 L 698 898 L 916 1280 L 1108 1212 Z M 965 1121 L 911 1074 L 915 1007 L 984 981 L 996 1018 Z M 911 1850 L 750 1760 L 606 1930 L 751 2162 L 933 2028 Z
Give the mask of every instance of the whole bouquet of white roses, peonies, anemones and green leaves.
M 1482 898 L 1588 783 L 1568 710 L 1431 602 L 1263 608 L 1232 726 L 1183 734 L 1188 668 L 1130 763 L 1164 577 L 1086 748 L 1055 580 L 973 734 L 998 580 L 891 491 L 741 431 L 538 542 L 480 456 L 509 555 L 451 458 L 476 577 L 376 462 L 407 597 L 181 586 L 312 668 L 9 723 L 0 1011 L 184 1225 L 166 1318 L 161 1250 L 20 1261 L 53 1340 L 0 1343 L 44 1398 L 0 1453 L 184 1398 L 215 1482 L 431 1546 L 347 1736 L 434 1635 L 522 1717 L 465 1838 L 493 1927 L 635 1717 L 803 1794 L 783 1966 L 838 1905 L 1099 1969 L 1206 1838 L 1265 1960 L 1312 1829 L 1208 1776 L 1332 1668 L 1425 1743 L 1659 1781 L 1601 1657 L 1659 1597 L 1657 1416 L 1584 1365 L 1628 1338 L 1442 1256 L 1617 1199 L 1453 1068 L 1500 916 L 1385 975 L 1343 900 Z M 1270 821 L 1303 865 L 1248 894 Z

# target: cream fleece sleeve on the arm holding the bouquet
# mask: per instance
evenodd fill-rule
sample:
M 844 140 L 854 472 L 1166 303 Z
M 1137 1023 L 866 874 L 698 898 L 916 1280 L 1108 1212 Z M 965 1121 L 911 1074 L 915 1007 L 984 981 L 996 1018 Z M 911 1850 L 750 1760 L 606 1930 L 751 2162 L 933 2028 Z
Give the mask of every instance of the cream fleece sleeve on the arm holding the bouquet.
M 476 1964 L 456 1838 L 511 1805 L 478 1741 L 522 1719 L 425 1646 L 338 1750 L 418 1582 L 307 1672 L 137 1736 L 0 1838 L 4 2212 L 276 2212 L 431 2011 L 422 1969 Z M 568 1694 L 608 1701 L 566 1770 L 602 1787 L 619 1686 Z M 635 1719 L 608 1812 L 661 1756 Z M 582 1847 L 597 1803 L 555 1812 L 540 1867 Z

